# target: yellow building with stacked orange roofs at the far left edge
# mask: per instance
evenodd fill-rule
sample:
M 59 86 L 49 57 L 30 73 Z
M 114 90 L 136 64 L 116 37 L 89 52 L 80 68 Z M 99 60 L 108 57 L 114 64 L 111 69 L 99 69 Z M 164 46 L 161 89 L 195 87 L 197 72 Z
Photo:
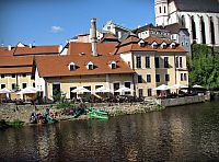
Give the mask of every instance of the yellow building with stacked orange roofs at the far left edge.
M 26 86 L 35 86 L 34 57 L 58 54 L 59 46 L 26 46 L 19 43 L 14 47 L 0 47 L 0 89 L 16 92 Z

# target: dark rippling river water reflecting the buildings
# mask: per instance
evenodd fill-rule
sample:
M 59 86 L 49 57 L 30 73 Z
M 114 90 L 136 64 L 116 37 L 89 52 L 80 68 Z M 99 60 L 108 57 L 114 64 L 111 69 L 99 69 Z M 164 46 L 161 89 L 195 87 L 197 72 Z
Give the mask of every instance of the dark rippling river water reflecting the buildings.
M 10 128 L 0 161 L 219 161 L 219 102 Z

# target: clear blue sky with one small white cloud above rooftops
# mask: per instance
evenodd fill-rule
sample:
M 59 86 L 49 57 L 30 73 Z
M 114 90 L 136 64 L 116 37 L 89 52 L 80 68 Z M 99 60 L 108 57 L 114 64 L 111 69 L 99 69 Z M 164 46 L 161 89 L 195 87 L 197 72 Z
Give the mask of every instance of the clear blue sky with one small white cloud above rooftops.
M 59 45 L 108 20 L 124 27 L 154 24 L 153 0 L 0 0 L 0 44 Z

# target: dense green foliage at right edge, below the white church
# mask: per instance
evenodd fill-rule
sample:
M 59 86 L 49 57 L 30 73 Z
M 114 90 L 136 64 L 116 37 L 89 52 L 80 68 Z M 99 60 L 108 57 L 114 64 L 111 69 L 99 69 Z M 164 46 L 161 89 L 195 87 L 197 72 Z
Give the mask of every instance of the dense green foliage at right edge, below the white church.
M 193 56 L 187 58 L 189 84 L 219 89 L 219 54 L 206 45 L 194 44 L 192 48 Z

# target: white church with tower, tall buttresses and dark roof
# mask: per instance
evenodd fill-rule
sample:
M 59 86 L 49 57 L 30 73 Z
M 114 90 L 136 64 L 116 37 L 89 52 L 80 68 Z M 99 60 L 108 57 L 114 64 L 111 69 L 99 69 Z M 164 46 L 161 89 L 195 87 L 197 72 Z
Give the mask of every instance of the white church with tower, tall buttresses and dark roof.
M 180 23 L 191 43 L 219 46 L 218 0 L 154 0 L 154 8 L 157 26 Z

